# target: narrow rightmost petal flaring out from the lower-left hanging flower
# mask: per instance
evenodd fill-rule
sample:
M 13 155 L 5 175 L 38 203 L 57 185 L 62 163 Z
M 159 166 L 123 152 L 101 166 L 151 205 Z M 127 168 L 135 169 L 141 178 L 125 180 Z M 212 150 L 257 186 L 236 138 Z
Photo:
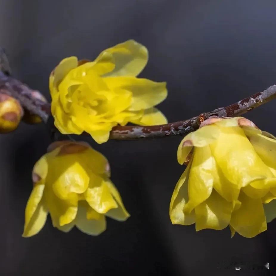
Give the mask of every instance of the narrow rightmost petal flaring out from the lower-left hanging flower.
M 106 184 L 118 205 L 117 208 L 113 208 L 113 209 L 109 210 L 106 213 L 106 216 L 116 219 L 117 221 L 125 221 L 130 215 L 127 212 L 127 210 L 125 209 L 125 206 L 121 199 L 120 193 L 118 192 L 117 188 L 110 180 L 106 181 Z

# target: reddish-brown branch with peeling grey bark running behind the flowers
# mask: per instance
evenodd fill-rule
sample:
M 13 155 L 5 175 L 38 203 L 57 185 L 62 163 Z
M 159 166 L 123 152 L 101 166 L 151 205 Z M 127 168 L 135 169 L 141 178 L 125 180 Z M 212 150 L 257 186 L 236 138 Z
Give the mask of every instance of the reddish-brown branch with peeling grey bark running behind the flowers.
M 15 97 L 25 110 L 27 109 L 32 114 L 40 116 L 46 123 L 49 120 L 49 117 L 51 117 L 51 105 L 34 97 L 33 92 L 36 92 L 36 90 L 30 89 L 30 87 L 21 81 L 0 72 L 0 93 Z M 202 113 L 199 116 L 188 120 L 166 125 L 153 125 L 146 127 L 118 125 L 111 130 L 110 138 L 117 140 L 129 140 L 162 138 L 176 135 L 184 136 L 198 129 L 200 123 L 212 115 L 216 115 L 218 117 L 240 116 L 274 98 L 276 98 L 276 85 L 270 86 L 268 89 L 253 94 L 252 96 L 233 103 L 230 106 L 218 108 L 212 112 Z

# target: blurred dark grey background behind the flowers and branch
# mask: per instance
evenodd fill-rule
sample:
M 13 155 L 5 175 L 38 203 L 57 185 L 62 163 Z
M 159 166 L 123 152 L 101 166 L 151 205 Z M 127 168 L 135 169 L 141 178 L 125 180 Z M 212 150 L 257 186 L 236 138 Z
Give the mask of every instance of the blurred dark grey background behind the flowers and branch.
M 62 58 L 93 59 L 135 39 L 150 53 L 141 76 L 168 83 L 168 98 L 159 108 L 172 122 L 276 83 L 275 10 L 275 0 L 1 0 L 0 45 L 13 75 L 49 99 L 48 76 Z M 275 104 L 246 117 L 275 135 Z M 109 159 L 111 179 L 131 217 L 108 219 L 106 232 L 97 237 L 77 229 L 60 232 L 48 218 L 38 235 L 22 238 L 32 166 L 46 151 L 49 135 L 42 124 L 24 123 L 1 135 L 0 275 L 224 275 L 217 269 L 227 266 L 234 275 L 235 262 L 270 263 L 275 271 L 276 221 L 251 239 L 230 239 L 228 228 L 195 232 L 194 225 L 171 224 L 170 197 L 183 171 L 176 160 L 181 139 L 102 145 L 90 140 Z

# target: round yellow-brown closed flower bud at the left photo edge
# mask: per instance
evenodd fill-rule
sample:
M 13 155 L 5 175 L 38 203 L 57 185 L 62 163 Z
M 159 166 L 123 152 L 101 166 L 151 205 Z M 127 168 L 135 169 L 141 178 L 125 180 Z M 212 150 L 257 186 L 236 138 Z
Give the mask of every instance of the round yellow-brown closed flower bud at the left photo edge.
M 13 97 L 0 93 L 0 133 L 17 128 L 23 115 L 20 103 Z

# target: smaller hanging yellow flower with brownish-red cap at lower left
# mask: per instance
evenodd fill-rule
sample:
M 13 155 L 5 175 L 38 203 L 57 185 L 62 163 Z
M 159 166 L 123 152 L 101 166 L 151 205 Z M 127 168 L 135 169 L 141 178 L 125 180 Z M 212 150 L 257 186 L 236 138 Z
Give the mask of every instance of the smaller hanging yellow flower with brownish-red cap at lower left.
M 106 229 L 105 216 L 125 221 L 129 214 L 109 177 L 108 161 L 88 144 L 52 143 L 33 168 L 23 237 L 37 234 L 48 212 L 53 226 L 63 232 L 75 225 L 86 234 L 99 235 Z

